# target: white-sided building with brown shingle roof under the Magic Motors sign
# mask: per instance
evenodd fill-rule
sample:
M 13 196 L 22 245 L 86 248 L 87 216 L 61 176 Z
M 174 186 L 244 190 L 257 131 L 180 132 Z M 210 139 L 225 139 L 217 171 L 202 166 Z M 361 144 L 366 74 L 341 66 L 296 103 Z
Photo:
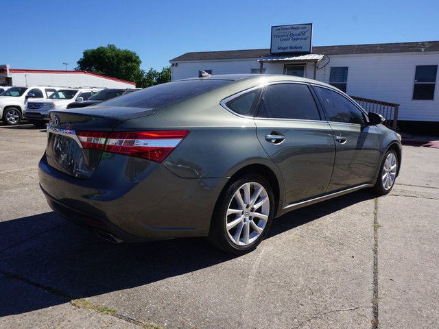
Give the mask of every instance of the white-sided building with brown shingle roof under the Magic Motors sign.
M 309 77 L 348 95 L 400 104 L 399 126 L 439 128 L 439 41 L 313 47 L 300 56 L 272 56 L 270 49 L 205 51 L 169 62 L 172 80 L 198 76 L 199 70 Z

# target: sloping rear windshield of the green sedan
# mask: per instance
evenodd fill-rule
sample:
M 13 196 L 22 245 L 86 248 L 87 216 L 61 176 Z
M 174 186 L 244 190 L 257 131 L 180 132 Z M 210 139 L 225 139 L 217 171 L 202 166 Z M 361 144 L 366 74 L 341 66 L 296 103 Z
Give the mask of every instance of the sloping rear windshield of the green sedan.
M 168 82 L 123 95 L 101 103 L 101 106 L 126 106 L 129 108 L 159 108 L 184 101 L 209 90 L 230 84 L 229 80 L 186 80 Z

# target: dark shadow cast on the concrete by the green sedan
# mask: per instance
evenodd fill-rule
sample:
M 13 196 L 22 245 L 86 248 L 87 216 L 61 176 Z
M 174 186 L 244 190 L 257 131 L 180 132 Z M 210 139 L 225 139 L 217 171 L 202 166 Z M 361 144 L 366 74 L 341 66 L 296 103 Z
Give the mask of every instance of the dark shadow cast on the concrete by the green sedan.
M 267 239 L 373 197 L 359 191 L 289 212 L 274 220 Z M 0 222 L 0 317 L 140 287 L 233 258 L 202 238 L 115 245 L 54 212 Z

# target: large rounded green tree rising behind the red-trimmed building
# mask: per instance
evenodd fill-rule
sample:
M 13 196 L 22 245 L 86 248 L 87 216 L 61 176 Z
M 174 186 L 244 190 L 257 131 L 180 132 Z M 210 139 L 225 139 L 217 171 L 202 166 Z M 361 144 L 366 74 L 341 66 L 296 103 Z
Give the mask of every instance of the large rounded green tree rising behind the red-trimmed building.
M 137 53 L 115 45 L 87 49 L 78 60 L 78 71 L 90 71 L 110 77 L 137 82 L 141 77 L 141 60 Z

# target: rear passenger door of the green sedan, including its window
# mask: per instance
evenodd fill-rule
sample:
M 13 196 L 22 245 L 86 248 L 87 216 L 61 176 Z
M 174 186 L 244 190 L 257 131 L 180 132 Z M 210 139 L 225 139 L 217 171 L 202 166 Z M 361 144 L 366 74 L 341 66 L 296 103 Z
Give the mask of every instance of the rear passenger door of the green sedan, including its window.
M 283 175 L 286 204 L 326 191 L 335 143 L 307 84 L 265 86 L 254 122 L 259 142 Z

